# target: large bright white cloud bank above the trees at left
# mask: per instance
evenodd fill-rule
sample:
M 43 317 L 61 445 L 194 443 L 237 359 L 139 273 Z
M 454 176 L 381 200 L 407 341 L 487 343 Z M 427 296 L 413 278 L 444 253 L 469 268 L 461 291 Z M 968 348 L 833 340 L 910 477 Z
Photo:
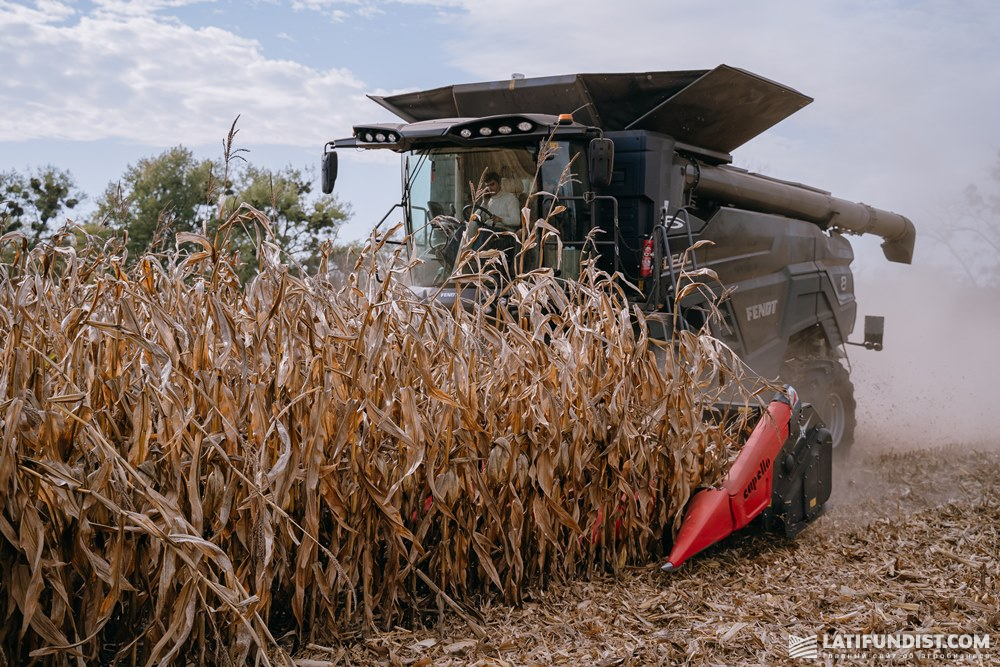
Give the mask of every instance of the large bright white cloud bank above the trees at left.
M 179 2 L 114 13 L 122 4 L 72 21 L 0 6 L 0 141 L 215 143 L 240 114 L 246 141 L 317 146 L 364 100 L 346 69 L 269 59 L 255 40 L 149 13 Z

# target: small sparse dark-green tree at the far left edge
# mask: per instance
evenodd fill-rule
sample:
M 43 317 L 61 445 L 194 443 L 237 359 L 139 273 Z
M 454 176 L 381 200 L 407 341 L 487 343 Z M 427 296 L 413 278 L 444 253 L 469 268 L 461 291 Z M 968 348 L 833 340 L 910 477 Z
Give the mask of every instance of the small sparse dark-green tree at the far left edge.
M 20 230 L 38 243 L 84 198 L 70 173 L 51 165 L 31 175 L 0 172 L 0 233 Z

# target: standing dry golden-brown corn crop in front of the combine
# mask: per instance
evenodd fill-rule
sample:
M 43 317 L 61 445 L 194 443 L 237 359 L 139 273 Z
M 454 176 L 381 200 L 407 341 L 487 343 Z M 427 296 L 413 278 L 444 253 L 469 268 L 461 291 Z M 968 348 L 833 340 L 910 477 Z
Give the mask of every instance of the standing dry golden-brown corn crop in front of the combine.
M 648 341 L 593 265 L 449 309 L 374 237 L 339 285 L 178 242 L 0 239 L 0 664 L 290 664 L 516 605 L 654 559 L 733 454 L 731 354 Z

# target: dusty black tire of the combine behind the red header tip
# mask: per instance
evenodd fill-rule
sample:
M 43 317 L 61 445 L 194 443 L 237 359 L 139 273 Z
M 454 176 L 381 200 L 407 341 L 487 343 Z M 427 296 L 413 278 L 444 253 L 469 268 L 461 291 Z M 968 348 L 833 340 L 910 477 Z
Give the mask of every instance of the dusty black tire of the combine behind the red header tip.
M 803 403 L 812 403 L 833 437 L 833 453 L 846 457 L 854 444 L 857 425 L 854 383 L 839 361 L 812 359 L 786 367 L 785 381 L 799 393 Z

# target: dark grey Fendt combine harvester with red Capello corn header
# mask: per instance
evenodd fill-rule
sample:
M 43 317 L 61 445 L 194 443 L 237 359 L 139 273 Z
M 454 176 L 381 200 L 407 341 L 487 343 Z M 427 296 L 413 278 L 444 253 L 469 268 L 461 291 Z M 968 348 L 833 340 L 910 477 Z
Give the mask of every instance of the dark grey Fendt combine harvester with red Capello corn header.
M 601 268 L 639 286 L 630 298 L 651 336 L 668 340 L 675 322 L 696 330 L 708 323 L 755 372 L 791 385 L 761 416 L 722 487 L 692 498 L 664 569 L 755 517 L 793 535 L 819 516 L 833 451 L 846 452 L 855 425 L 845 346 L 857 306 L 844 234 L 875 234 L 886 259 L 908 264 L 916 231 L 896 213 L 731 165 L 734 149 L 811 98 L 720 65 L 515 75 L 372 99 L 403 122 L 358 125 L 353 137 L 328 143 L 323 191 L 333 191 L 338 148 L 402 155 L 396 207 L 411 256 L 423 260 L 412 275 L 418 293 L 475 299 L 475 287 L 449 281 L 457 241 L 473 225 L 519 228 L 494 204 L 501 199 L 493 190 L 502 189 L 531 219 L 555 211 L 549 220 L 561 244 L 543 244 L 540 261 L 562 277 L 576 277 L 585 250 L 596 248 Z M 477 199 L 469 183 L 486 180 L 497 182 Z M 595 229 L 603 232 L 596 241 L 588 238 Z M 731 290 L 721 322 L 707 322 L 704 295 L 676 298 L 692 268 L 714 271 L 716 294 L 721 285 Z M 857 344 L 881 349 L 882 330 L 881 317 L 867 317 Z

